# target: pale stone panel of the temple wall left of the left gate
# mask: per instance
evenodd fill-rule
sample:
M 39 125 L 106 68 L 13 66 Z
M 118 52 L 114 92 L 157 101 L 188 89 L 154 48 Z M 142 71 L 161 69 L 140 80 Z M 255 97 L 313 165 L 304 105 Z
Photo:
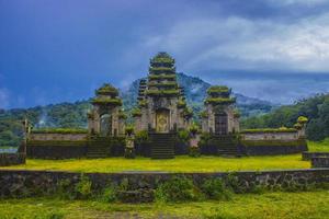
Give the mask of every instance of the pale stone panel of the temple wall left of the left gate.
M 86 140 L 87 134 L 30 134 L 29 140 Z

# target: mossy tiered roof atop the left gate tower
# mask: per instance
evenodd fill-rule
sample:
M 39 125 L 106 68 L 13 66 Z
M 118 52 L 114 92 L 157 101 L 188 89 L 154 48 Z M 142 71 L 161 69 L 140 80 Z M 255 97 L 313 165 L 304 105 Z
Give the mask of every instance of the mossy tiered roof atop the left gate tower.
M 121 106 L 122 100 L 118 97 L 118 91 L 110 83 L 103 84 L 95 90 L 95 97 L 91 100 L 93 105 L 113 105 Z

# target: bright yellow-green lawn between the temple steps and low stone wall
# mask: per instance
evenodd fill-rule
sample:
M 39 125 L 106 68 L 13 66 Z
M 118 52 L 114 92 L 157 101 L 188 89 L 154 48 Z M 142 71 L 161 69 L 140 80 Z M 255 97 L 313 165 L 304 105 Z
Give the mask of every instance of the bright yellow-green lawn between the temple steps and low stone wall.
M 125 159 L 80 159 L 80 160 L 34 160 L 27 159 L 26 164 L 2 169 L 14 170 L 55 170 L 75 172 L 123 172 L 123 171 L 163 171 L 163 172 L 214 172 L 246 170 L 308 169 L 309 161 L 302 161 L 300 154 L 220 158 L 191 158 L 179 155 L 171 160 L 151 160 L 148 158 Z

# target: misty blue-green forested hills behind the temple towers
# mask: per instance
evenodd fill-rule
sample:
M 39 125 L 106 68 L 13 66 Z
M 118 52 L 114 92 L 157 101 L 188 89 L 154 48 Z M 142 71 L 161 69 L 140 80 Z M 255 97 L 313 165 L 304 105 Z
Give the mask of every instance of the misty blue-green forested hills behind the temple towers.
M 127 91 L 121 92 L 124 108 L 127 112 L 135 105 L 139 80 L 134 81 Z M 178 74 L 178 80 L 185 89 L 188 103 L 193 107 L 195 115 L 197 115 L 203 107 L 203 100 L 211 84 L 200 78 L 183 73 Z M 93 93 L 90 95 L 92 96 Z M 243 117 L 264 114 L 273 107 L 273 104 L 270 102 L 247 97 L 241 94 L 235 95 L 237 96 L 237 106 Z M 78 101 L 76 103 L 50 104 L 32 108 L 0 110 L 0 140 L 4 140 L 7 145 L 16 143 L 16 137 L 20 132 L 20 120 L 25 117 L 38 127 L 87 127 L 87 112 L 90 107 L 88 101 Z

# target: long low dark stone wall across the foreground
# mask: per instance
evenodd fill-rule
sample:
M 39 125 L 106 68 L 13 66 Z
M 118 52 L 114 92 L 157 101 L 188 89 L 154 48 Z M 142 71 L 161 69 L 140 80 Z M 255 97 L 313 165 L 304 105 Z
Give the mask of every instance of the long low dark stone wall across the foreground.
M 95 191 L 101 191 L 110 184 L 121 184 L 123 181 L 127 183 L 129 191 L 149 191 L 157 188 L 162 182 L 173 176 L 189 177 L 196 186 L 201 186 L 207 178 L 232 178 L 232 181 L 228 181 L 228 183 L 232 183 L 231 186 L 238 185 L 238 189 L 248 191 L 256 185 L 272 188 L 329 183 L 329 169 L 236 173 L 86 173 L 84 176 L 90 178 Z M 47 194 L 54 192 L 59 182 L 65 180 L 73 184 L 78 183 L 80 177 L 81 173 L 0 170 L 0 197 Z

